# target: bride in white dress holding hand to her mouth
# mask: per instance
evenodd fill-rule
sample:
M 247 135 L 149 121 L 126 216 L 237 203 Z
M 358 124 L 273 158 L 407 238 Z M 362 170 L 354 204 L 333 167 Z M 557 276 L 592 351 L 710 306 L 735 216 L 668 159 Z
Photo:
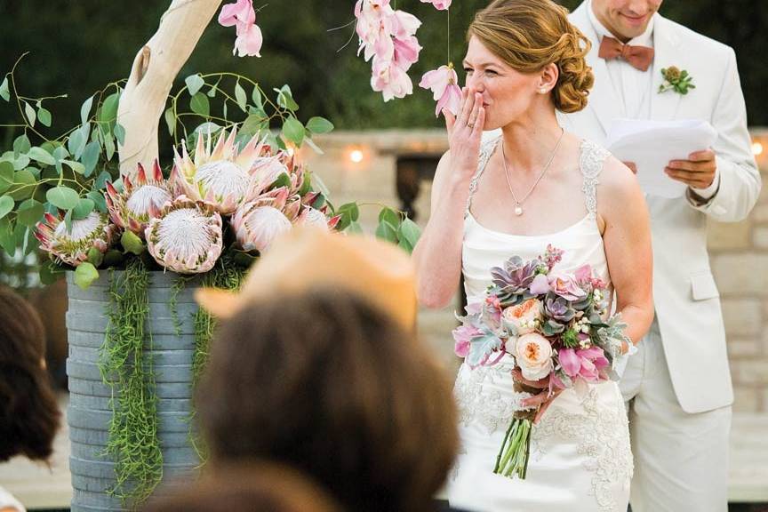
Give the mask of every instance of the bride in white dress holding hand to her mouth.
M 615 290 L 614 307 L 640 340 L 653 317 L 648 212 L 635 177 L 603 148 L 558 125 L 556 109 L 587 103 L 588 41 L 550 0 L 495 0 L 468 30 L 463 104 L 445 113 L 432 212 L 414 251 L 420 301 L 446 306 L 460 276 L 468 300 L 510 256 L 552 244 L 557 268 L 588 263 Z M 481 144 L 483 131 L 500 135 Z M 470 510 L 625 512 L 632 474 L 627 416 L 613 381 L 567 389 L 532 433 L 527 478 L 493 474 L 514 412 L 511 356 L 471 369 L 454 393 L 462 449 L 449 479 L 452 506 Z M 540 397 L 534 397 L 535 401 Z

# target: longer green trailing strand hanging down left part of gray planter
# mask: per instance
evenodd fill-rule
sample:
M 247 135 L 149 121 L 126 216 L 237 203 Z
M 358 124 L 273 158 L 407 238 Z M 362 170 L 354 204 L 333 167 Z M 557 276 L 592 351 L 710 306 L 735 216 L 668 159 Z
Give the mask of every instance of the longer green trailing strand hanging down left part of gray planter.
M 100 349 L 101 375 L 114 396 L 106 452 L 116 462 L 116 484 L 108 493 L 132 506 L 146 500 L 163 476 L 155 378 L 144 346 L 152 337 L 146 329 L 148 285 L 139 259 L 119 276 L 110 271 L 109 324 Z

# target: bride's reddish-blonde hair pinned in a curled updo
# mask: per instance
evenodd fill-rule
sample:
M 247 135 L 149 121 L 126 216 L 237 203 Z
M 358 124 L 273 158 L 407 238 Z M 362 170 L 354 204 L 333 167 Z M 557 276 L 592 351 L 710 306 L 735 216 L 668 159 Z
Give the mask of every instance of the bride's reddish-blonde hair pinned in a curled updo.
M 555 108 L 578 112 L 587 106 L 595 81 L 584 60 L 592 44 L 567 16 L 568 10 L 552 0 L 495 0 L 476 13 L 467 36 L 477 37 L 521 73 L 554 63 L 560 71 L 552 90 Z

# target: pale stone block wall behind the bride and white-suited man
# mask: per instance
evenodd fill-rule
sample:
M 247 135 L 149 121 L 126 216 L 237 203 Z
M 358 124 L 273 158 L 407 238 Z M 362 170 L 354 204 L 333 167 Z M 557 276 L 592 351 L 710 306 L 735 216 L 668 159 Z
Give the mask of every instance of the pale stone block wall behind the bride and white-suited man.
M 768 179 L 768 130 L 753 130 L 764 151 L 757 156 L 763 180 Z M 447 149 L 442 130 L 335 132 L 316 137 L 323 148 L 319 156 L 304 154 L 310 169 L 324 180 L 334 204 L 356 200 L 366 231 L 375 227 L 379 208 L 399 207 L 396 194 L 398 156 L 434 156 Z M 359 151 L 353 155 L 353 152 Z M 353 161 L 359 158 L 359 162 Z M 431 181 L 422 182 L 415 209 L 423 226 L 429 212 Z M 739 223 L 711 222 L 709 248 L 712 270 L 720 288 L 728 350 L 738 412 L 768 412 L 768 187 L 763 188 L 755 210 Z M 450 330 L 455 306 L 420 313 L 422 337 L 436 349 L 444 365 L 455 370 Z

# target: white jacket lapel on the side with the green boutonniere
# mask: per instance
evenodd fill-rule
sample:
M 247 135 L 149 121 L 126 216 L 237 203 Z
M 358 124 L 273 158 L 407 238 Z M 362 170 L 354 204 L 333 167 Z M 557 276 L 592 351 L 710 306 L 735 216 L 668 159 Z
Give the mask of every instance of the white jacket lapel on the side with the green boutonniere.
M 680 39 L 676 35 L 672 23 L 660 15 L 656 15 L 653 27 L 653 85 L 651 90 L 651 118 L 658 121 L 669 121 L 675 118 L 680 106 L 681 94 L 674 91 L 658 92 L 664 82 L 661 69 L 676 66 L 684 68 L 684 59 L 680 52 Z

